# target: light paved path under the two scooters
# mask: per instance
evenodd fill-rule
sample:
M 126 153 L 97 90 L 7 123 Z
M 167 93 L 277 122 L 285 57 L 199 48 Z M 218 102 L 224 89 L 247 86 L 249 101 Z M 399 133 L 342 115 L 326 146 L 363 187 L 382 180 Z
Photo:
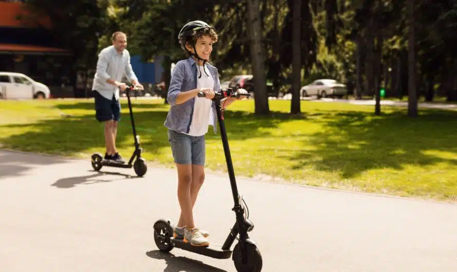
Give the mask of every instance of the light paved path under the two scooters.
M 176 174 L 91 170 L 88 160 L 0 151 L 2 272 L 235 271 L 233 262 L 172 250 L 152 226 L 178 215 Z M 130 176 L 132 175 L 132 176 Z M 207 174 L 196 221 L 222 244 L 234 222 L 225 176 Z M 457 205 L 240 179 L 263 270 L 453 272 Z

